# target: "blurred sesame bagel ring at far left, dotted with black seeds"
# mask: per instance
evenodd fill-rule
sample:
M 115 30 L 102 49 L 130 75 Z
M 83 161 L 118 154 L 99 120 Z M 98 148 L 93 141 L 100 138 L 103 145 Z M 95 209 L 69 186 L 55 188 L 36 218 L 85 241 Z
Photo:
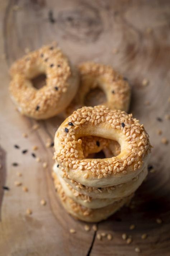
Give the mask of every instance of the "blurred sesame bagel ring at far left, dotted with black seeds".
M 46 74 L 46 85 L 36 89 L 32 79 Z M 62 112 L 75 96 L 79 76 L 55 44 L 43 46 L 13 63 L 10 95 L 19 112 L 46 119 Z

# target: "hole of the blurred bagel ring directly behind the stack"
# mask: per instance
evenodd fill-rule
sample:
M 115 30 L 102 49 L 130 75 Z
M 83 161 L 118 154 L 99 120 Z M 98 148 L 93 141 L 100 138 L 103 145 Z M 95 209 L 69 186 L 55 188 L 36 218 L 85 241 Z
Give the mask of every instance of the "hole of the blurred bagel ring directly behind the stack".
M 91 89 L 85 96 L 84 105 L 94 107 L 95 105 L 102 105 L 107 101 L 106 95 L 99 87 Z

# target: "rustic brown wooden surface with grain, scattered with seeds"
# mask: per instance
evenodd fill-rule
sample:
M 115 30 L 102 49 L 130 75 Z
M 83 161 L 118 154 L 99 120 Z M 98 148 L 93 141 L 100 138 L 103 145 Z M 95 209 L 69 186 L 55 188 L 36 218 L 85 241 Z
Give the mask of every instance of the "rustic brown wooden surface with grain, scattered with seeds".
M 53 11 L 50 20 L 49 10 Z M 141 255 L 169 255 L 170 147 L 161 143 L 162 137 L 170 139 L 170 120 L 165 119 L 170 111 L 169 14 L 168 0 L 0 1 L 0 185 L 10 188 L 0 187 L 0 255 L 132 256 L 137 255 L 135 247 L 141 248 Z M 40 121 L 40 129 L 33 131 L 37 122 L 16 112 L 9 98 L 11 63 L 25 48 L 34 50 L 53 40 L 75 64 L 85 60 L 112 64 L 128 77 L 133 94 L 131 112 L 144 123 L 154 146 L 150 164 L 155 172 L 149 173 L 138 190 L 135 207 L 123 208 L 98 224 L 99 233 L 113 234 L 112 241 L 99 241 L 93 230 L 85 232 L 84 224 L 68 216 L 56 197 L 51 179 L 53 149 L 45 144 L 53 139 L 62 118 Z M 144 78 L 150 81 L 146 87 L 142 86 Z M 157 129 L 162 130 L 161 136 Z M 23 138 L 23 133 L 28 138 Z M 46 170 L 31 156 L 34 145 L 39 148 L 36 155 L 48 162 Z M 22 149 L 28 153 L 23 155 Z M 13 162 L 19 166 L 12 166 Z M 23 176 L 17 177 L 17 171 Z M 15 187 L 14 181 L 22 181 L 29 192 Z M 40 205 L 42 198 L 46 206 Z M 32 209 L 31 216 L 25 215 L 27 208 Z M 157 217 L 162 224 L 156 223 Z M 130 224 L 136 229 L 129 230 Z M 70 228 L 76 234 L 71 235 Z M 133 242 L 127 245 L 122 233 L 132 235 Z M 148 234 L 146 240 L 141 239 L 143 233 Z

